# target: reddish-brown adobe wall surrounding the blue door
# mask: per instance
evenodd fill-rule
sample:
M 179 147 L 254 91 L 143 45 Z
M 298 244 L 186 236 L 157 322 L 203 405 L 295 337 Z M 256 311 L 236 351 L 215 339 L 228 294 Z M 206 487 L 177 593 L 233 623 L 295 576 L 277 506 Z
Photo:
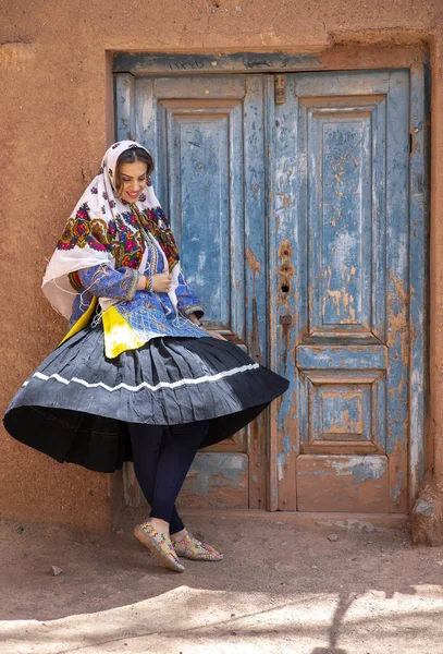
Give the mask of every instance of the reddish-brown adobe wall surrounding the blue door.
M 443 390 L 443 2 L 16 0 L 3 3 L 0 14 L 2 412 L 65 331 L 64 320 L 40 292 L 40 280 L 66 217 L 112 142 L 107 51 L 322 51 L 341 44 L 372 44 L 376 49 L 380 44 L 429 44 L 433 122 L 428 461 L 441 481 L 443 402 L 436 400 Z M 109 526 L 106 475 L 62 467 L 4 432 L 0 443 L 0 516 Z M 430 498 L 436 477 L 427 491 Z M 426 540 L 423 534 L 434 530 L 439 538 L 435 511 L 433 517 L 417 517 L 417 537 Z M 432 520 L 433 526 L 423 529 L 423 520 Z

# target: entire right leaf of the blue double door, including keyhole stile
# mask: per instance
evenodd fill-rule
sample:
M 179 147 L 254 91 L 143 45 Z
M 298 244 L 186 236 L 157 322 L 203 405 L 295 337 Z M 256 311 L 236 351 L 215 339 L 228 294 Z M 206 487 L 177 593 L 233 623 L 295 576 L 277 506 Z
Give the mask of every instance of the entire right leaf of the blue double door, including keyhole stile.
M 294 97 L 270 120 L 271 159 L 296 171 L 284 181 L 271 166 L 284 189 L 283 206 L 272 198 L 273 362 L 291 379 L 271 427 L 274 507 L 404 511 L 408 74 L 286 78 Z

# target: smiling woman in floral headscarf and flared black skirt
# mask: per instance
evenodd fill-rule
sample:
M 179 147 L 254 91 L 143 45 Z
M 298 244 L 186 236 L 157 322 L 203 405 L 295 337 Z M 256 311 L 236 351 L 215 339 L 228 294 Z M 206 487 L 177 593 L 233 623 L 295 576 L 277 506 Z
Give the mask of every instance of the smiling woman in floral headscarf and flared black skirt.
M 133 460 L 151 507 L 134 533 L 183 571 L 179 555 L 222 558 L 186 531 L 175 508 L 197 450 L 245 426 L 287 382 L 205 330 L 152 170 L 133 141 L 106 153 L 42 283 L 71 330 L 3 420 L 12 436 L 60 462 L 113 472 Z

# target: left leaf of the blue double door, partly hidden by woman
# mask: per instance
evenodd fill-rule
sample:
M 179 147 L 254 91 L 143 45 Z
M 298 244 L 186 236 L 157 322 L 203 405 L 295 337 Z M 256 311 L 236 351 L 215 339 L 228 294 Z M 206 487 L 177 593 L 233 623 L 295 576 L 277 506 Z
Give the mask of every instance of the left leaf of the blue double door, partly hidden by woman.
M 153 155 L 156 193 L 205 324 L 256 361 L 267 352 L 266 88 L 261 75 L 115 77 L 118 138 Z M 263 507 L 266 428 L 260 416 L 199 452 L 182 502 Z M 124 476 L 126 501 L 143 504 L 131 465 Z

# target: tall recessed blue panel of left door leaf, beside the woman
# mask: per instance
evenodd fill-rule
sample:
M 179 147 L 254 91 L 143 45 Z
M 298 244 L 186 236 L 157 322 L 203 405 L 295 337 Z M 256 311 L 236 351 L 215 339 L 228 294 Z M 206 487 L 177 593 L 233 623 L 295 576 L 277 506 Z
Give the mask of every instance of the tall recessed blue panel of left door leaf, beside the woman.
M 229 125 L 241 119 L 242 104 L 233 100 L 221 109 L 216 102 L 196 100 L 187 107 L 180 100 L 163 102 L 170 211 L 183 270 L 205 306 L 205 319 L 230 329 L 231 283 L 238 277 L 238 257 L 231 258 L 229 172 L 230 157 L 242 156 L 242 143 L 229 147 Z

